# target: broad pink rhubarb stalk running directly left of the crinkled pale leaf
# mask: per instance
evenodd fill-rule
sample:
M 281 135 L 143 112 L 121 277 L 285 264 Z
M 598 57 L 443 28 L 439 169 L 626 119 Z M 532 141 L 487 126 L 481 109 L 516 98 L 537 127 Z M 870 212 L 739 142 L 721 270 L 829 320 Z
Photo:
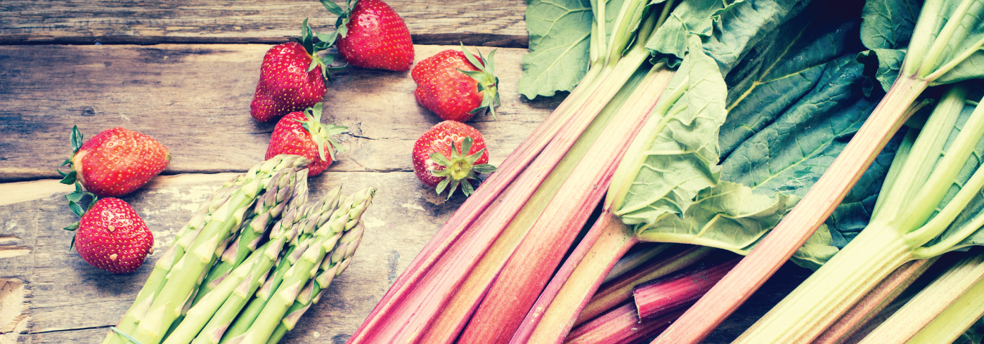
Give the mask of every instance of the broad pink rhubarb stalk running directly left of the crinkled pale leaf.
M 637 46 L 640 48 L 634 49 L 623 62 L 631 61 L 630 56 L 648 56 L 645 48 Z M 646 76 L 648 82 L 638 86 L 633 93 L 660 94 L 672 76 L 673 73 L 661 64 L 656 65 Z M 591 146 L 577 167 L 577 175 L 564 183 L 523 238 L 517 254 L 503 267 L 461 334 L 461 342 L 506 343 L 512 338 L 526 311 L 535 303 L 583 228 L 591 210 L 607 193 L 618 162 L 655 106 L 655 99 L 648 98 L 649 101 L 639 101 L 623 109 Z

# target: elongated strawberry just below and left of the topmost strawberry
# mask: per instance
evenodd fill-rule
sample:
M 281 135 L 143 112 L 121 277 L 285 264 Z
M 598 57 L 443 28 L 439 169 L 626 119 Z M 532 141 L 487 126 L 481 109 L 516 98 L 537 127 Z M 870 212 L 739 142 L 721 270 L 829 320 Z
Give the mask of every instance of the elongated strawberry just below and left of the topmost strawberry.
M 321 39 L 317 44 L 315 35 Z M 260 82 L 250 103 L 250 115 L 257 121 L 267 122 L 303 110 L 325 97 L 328 71 L 335 69 L 328 65 L 334 58 L 323 58 L 318 52 L 335 42 L 335 34 L 314 33 L 304 20 L 301 36 L 294 38 L 297 41 L 277 44 L 263 56 Z

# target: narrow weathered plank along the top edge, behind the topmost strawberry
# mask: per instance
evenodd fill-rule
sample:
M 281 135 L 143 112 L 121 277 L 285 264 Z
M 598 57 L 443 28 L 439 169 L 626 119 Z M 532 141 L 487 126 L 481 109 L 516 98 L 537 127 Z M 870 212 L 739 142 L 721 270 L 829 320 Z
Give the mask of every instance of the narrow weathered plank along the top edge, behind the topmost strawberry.
M 525 47 L 529 42 L 522 0 L 387 3 L 417 44 Z M 308 17 L 316 30 L 335 29 L 336 16 L 314 0 L 5 0 L 0 44 L 271 43 L 297 35 Z

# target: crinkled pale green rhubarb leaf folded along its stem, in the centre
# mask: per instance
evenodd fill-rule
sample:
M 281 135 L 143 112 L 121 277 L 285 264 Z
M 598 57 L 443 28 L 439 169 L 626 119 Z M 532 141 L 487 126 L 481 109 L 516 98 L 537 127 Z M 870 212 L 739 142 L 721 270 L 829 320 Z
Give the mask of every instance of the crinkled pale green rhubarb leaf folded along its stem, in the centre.
M 697 194 L 717 184 L 717 131 L 724 122 L 726 86 L 697 35 L 646 125 L 612 177 L 608 200 L 625 223 L 651 223 L 680 214 Z

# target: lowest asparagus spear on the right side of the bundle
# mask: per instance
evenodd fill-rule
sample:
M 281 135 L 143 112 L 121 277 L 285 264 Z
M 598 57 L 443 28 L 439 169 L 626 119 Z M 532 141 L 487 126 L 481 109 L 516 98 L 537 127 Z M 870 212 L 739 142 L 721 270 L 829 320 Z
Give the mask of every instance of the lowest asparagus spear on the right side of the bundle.
M 280 338 L 287 331 L 294 329 L 301 315 L 304 315 L 311 308 L 312 304 L 317 304 L 318 300 L 321 300 L 321 295 L 325 292 L 325 289 L 332 284 L 335 277 L 338 277 L 352 261 L 352 256 L 355 255 L 355 249 L 359 247 L 364 232 L 365 226 L 359 223 L 348 232 L 345 232 L 330 255 L 325 255 L 325 259 L 322 260 L 321 266 L 318 269 L 318 276 L 308 281 L 307 286 L 297 295 L 294 304 L 290 305 L 290 308 L 287 309 L 287 314 L 277 324 L 277 328 L 274 329 L 274 333 L 267 340 L 267 344 L 276 344 L 279 342 Z

